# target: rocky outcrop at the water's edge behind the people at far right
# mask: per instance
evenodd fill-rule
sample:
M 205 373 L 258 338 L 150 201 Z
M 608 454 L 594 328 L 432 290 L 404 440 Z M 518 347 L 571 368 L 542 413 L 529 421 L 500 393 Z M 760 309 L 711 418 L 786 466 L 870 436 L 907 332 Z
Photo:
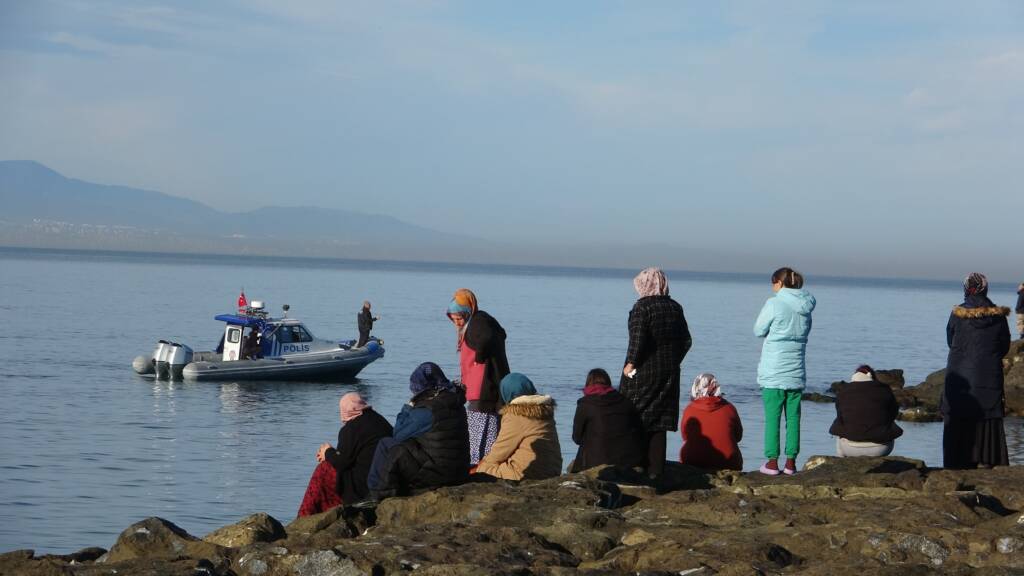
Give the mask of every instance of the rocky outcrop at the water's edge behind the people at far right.
M 906 386 L 902 370 L 878 370 L 879 381 L 889 384 L 899 402 L 899 419 L 912 422 L 939 422 L 939 399 L 945 384 L 946 371 L 937 370 L 915 386 Z M 1007 396 L 1007 415 L 1024 416 L 1024 340 L 1016 340 L 1002 359 L 1004 388 Z M 847 382 L 833 382 L 829 394 L 805 393 L 810 402 L 836 402 L 835 394 Z

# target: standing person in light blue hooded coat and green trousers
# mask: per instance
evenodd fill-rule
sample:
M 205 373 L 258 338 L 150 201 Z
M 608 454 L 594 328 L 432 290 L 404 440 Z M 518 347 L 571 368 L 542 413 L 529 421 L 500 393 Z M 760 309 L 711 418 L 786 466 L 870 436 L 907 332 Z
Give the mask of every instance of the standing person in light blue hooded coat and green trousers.
M 804 290 L 804 277 L 790 268 L 771 276 L 775 295 L 768 298 L 754 323 L 754 335 L 764 338 L 758 364 L 758 386 L 765 405 L 766 475 L 779 474 L 779 418 L 785 414 L 785 466 L 782 472 L 797 471 L 800 453 L 800 401 L 807 385 L 807 336 L 811 332 L 811 312 L 815 300 Z

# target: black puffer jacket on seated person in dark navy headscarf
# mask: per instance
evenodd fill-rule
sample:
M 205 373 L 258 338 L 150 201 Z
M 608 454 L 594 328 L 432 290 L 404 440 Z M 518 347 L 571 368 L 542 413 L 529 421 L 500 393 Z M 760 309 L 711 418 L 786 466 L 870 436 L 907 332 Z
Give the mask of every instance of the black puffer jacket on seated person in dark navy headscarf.
M 382 454 L 382 485 L 375 487 L 379 497 L 452 486 L 469 478 L 469 426 L 462 388 L 427 390 L 414 397 L 412 404 L 430 410 L 430 429 Z

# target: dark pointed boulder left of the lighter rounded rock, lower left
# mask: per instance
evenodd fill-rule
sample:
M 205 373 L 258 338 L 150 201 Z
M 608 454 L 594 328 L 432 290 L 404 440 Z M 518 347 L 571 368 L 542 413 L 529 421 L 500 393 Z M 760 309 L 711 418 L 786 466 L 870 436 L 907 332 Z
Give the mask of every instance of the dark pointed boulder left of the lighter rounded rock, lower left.
M 226 556 L 222 546 L 204 542 L 162 518 L 137 522 L 118 536 L 105 554 L 105 563 L 133 559 L 208 559 L 220 561 Z

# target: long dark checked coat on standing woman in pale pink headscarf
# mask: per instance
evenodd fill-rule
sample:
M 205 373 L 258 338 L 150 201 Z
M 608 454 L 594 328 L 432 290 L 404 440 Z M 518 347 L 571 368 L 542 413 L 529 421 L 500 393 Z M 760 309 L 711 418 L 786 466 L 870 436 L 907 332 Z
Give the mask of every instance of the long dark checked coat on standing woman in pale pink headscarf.
M 683 306 L 669 296 L 645 296 L 630 311 L 626 362 L 637 373 L 623 376 L 618 390 L 640 412 L 647 431 L 679 428 L 679 365 L 690 338 Z

